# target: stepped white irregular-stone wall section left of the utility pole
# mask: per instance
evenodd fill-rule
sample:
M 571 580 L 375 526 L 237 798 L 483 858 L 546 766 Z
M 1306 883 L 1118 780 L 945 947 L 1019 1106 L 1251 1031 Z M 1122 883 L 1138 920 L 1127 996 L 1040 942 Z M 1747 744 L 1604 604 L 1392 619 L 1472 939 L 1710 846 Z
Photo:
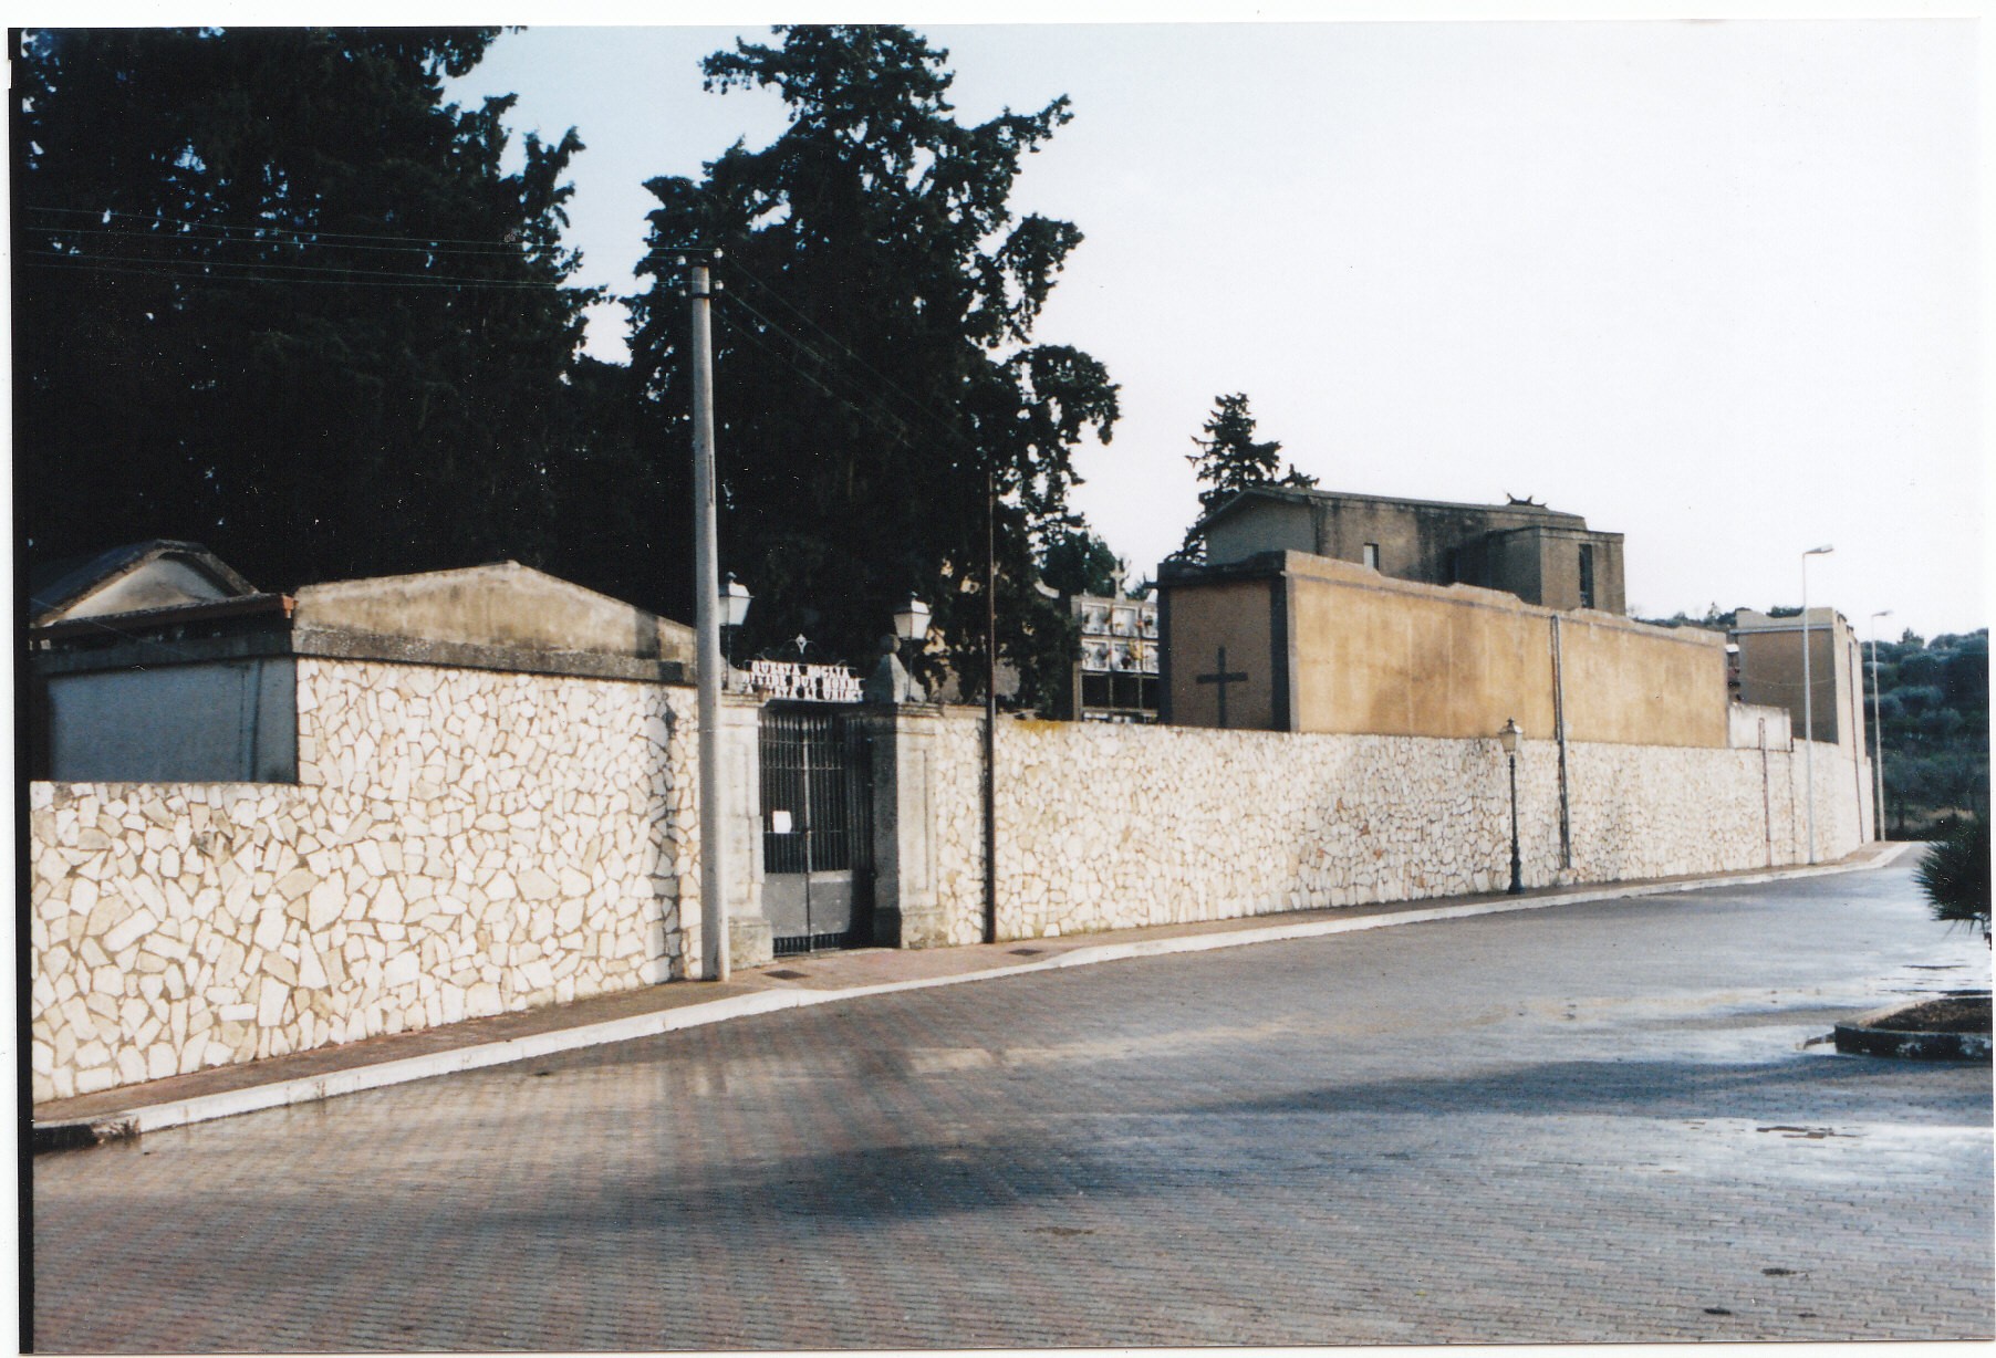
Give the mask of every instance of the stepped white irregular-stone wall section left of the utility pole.
M 691 690 L 297 660 L 287 784 L 34 784 L 32 1097 L 699 955 Z

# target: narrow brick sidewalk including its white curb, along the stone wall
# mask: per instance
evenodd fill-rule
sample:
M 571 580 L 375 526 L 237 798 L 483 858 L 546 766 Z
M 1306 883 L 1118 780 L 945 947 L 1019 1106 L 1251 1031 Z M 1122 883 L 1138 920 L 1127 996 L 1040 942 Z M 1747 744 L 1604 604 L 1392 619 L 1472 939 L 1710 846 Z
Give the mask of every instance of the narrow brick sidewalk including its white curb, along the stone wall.
M 1515 909 L 1667 895 L 1699 887 L 1750 885 L 1790 877 L 1882 867 L 1914 844 L 1874 842 L 1814 867 L 1772 867 L 1697 877 L 1657 877 L 1579 887 L 1539 887 L 1523 895 L 1459 895 L 1435 901 L 1283 911 L 1246 919 L 1116 929 L 1056 939 L 1014 939 L 972 947 L 898 951 L 884 947 L 782 957 L 727 983 L 671 981 L 579 999 L 525 1013 L 493 1015 L 417 1033 L 371 1037 L 267 1061 L 216 1067 L 144 1085 L 124 1085 L 34 1107 L 34 1151 L 58 1151 L 136 1137 L 238 1113 L 333 1099 L 455 1071 L 531 1061 L 557 1051 L 623 1043 L 750 1013 L 822 1005 L 858 995 L 982 981 L 1048 967 L 1084 967 L 1122 957 L 1242 947 L 1431 919 Z

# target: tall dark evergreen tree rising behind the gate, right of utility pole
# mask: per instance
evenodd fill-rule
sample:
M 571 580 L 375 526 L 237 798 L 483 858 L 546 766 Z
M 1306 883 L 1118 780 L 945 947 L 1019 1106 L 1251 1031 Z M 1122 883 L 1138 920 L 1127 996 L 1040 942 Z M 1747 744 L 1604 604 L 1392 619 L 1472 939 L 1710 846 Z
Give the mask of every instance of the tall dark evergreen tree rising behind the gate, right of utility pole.
M 689 409 L 675 251 L 727 251 L 721 558 L 756 594 L 745 652 L 802 632 L 812 654 L 864 662 L 912 590 L 980 690 L 990 485 L 1000 654 L 1034 702 L 1068 664 L 1034 554 L 1074 524 L 1076 443 L 1090 427 L 1106 439 L 1118 413 L 1096 359 L 1032 343 L 1080 231 L 1008 205 L 1022 158 L 1068 120 L 1068 102 L 962 126 L 948 54 L 918 34 L 774 32 L 772 46 L 707 58 L 707 88 L 772 88 L 790 124 L 762 150 L 727 150 L 699 181 L 647 185 L 661 203 L 645 265 L 655 287 L 633 339 L 649 395 Z

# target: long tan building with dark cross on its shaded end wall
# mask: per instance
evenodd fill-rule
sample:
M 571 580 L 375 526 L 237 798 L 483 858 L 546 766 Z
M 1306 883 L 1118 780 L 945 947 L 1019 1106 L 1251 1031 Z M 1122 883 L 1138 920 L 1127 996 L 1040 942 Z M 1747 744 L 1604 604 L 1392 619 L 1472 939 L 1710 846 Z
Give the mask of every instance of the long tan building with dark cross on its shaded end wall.
M 1164 720 L 1234 730 L 1729 744 L 1717 632 L 1265 552 L 1160 578 Z

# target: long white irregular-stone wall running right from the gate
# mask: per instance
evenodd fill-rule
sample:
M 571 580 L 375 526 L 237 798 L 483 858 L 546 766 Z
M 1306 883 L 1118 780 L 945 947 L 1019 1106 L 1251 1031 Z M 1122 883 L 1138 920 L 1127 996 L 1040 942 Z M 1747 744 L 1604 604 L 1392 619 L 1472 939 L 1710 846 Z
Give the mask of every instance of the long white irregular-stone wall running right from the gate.
M 938 895 L 952 943 L 982 937 L 978 724 L 952 710 L 936 740 Z M 1002 939 L 1509 883 L 1511 802 L 1495 740 L 1000 720 L 996 752 Z M 1559 748 L 1525 742 L 1517 764 L 1525 885 L 1806 861 L 1800 752 L 1569 746 L 1571 867 Z M 1854 780 L 1836 746 L 1816 748 L 1818 859 L 1868 836 Z

